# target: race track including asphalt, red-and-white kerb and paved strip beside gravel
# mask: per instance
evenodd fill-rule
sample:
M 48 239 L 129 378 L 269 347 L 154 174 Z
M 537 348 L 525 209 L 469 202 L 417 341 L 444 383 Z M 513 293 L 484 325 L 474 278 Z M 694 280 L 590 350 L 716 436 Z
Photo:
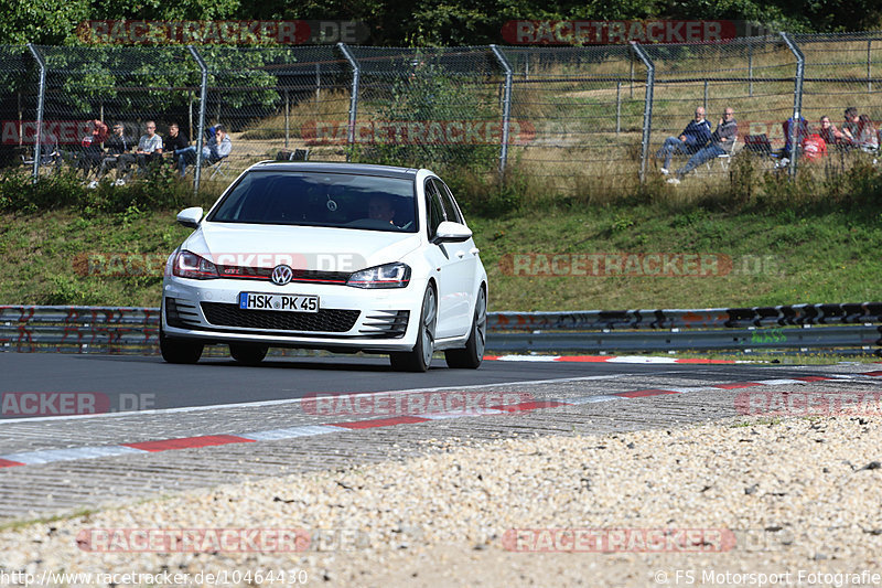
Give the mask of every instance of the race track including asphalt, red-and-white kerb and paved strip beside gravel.
M 157 356 L 0 353 L 0 522 L 405 459 L 451 442 L 739 419 L 752 414 L 745 395 L 846 398 L 879 394 L 882 384 L 880 365 L 869 363 L 487 361 L 470 371 L 434 362 L 427 374 L 402 374 L 379 357 L 271 357 L 244 367 L 226 359 L 170 365 Z M 316 409 L 316 395 L 337 404 Z M 456 395 L 484 404 L 432 408 Z M 78 398 L 97 414 L 71 415 Z M 340 402 L 348 398 L 361 398 L 357 410 Z M 381 398 L 401 398 L 404 410 L 385 413 Z

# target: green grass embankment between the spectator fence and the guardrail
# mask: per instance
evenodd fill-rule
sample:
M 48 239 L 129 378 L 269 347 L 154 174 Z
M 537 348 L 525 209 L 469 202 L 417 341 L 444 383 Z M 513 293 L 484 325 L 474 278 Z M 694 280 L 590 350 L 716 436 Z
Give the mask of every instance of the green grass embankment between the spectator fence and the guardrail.
M 189 234 L 176 210 L 89 215 L 66 209 L 0 216 L 0 303 L 158 306 L 161 276 L 83 276 L 83 256 L 168 255 Z M 659 205 L 469 216 L 490 275 L 492 310 L 703 308 L 879 300 L 882 206 L 799 213 L 674 212 Z M 520 254 L 716 254 L 710 276 L 552 276 Z M 80 261 L 77 264 L 77 259 Z M 153 257 L 155 259 L 155 257 Z M 519 258 L 526 259 L 526 258 Z M 548 260 L 545 265 L 542 261 Z M 501 263 L 502 261 L 502 263 Z M 118 264 L 118 263 L 117 263 Z M 121 268 L 122 266 L 117 266 Z M 591 263 L 587 264 L 590 274 Z M 641 267 L 646 267 L 641 266 Z M 653 269 L 655 266 L 649 266 Z M 79 268 L 79 272 L 77 271 Z M 111 268 L 112 269 L 112 268 Z M 508 275 L 512 269 L 518 276 Z M 578 274 L 579 271 L 577 271 Z

